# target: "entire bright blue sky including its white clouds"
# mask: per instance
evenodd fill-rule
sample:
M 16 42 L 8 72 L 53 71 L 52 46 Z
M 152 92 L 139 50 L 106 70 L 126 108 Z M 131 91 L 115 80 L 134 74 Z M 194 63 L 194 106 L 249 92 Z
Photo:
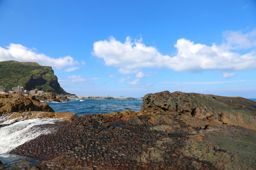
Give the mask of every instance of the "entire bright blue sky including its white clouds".
M 256 0 L 0 0 L 0 61 L 79 96 L 256 98 Z

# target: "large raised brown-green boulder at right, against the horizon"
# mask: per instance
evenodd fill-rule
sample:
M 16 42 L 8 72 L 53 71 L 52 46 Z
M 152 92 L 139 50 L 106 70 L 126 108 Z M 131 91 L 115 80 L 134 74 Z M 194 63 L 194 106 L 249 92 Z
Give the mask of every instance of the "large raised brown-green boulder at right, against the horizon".
M 242 97 L 164 91 L 146 94 L 140 113 L 162 113 L 184 121 L 239 125 L 256 130 L 256 102 Z M 203 121 L 202 121 L 203 120 Z

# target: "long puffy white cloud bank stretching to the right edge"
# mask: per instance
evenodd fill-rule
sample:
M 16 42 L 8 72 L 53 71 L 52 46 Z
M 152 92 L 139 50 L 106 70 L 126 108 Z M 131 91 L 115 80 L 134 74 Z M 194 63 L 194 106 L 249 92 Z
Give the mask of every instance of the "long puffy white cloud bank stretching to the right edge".
M 102 58 L 107 66 L 119 68 L 122 74 L 142 76 L 142 68 L 170 68 L 174 71 L 204 70 L 249 70 L 256 69 L 256 30 L 247 34 L 242 32 L 224 33 L 225 41 L 221 45 L 211 46 L 195 43 L 186 39 L 177 40 L 174 46 L 177 54 L 173 57 L 163 55 L 155 47 L 146 46 L 142 39 L 126 38 L 124 43 L 114 37 L 94 42 L 93 55 Z M 254 48 L 246 54 L 231 52 Z

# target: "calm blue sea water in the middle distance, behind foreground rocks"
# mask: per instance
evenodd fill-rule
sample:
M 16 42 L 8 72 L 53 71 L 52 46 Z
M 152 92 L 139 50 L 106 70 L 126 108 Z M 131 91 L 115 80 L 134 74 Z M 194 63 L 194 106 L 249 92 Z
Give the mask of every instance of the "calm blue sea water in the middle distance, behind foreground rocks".
M 55 112 L 68 111 L 83 114 L 113 113 L 116 111 L 134 110 L 139 111 L 142 106 L 141 99 L 74 99 L 70 101 L 47 102 Z

